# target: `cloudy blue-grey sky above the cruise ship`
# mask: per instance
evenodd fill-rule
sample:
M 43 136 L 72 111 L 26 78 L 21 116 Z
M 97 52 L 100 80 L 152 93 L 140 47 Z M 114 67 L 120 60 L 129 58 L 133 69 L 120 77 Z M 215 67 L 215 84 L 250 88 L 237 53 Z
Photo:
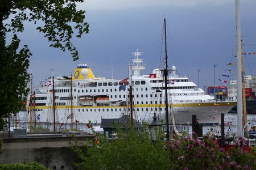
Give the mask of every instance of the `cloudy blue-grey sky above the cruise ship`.
M 256 52 L 256 1 L 241 0 L 241 34 L 244 52 Z M 162 67 L 163 20 L 167 20 L 168 66 L 175 65 L 180 76 L 187 76 L 204 90 L 218 79 L 236 79 L 235 0 L 86 0 L 77 4 L 85 10 L 90 31 L 72 40 L 80 59 L 73 62 L 69 52 L 49 48 L 47 39 L 32 23 L 25 23 L 20 35 L 33 56 L 28 72 L 34 86 L 49 75 L 73 74 L 79 63 L 86 63 L 95 76 L 124 79 L 131 52 L 139 49 L 146 63 L 142 74 Z M 161 55 L 162 52 L 162 55 Z M 256 74 L 256 55 L 245 56 L 245 73 Z M 113 70 L 112 70 L 113 67 Z M 198 72 L 198 70 L 201 70 Z M 232 69 L 232 73 L 224 71 Z M 221 76 L 229 75 L 229 78 Z

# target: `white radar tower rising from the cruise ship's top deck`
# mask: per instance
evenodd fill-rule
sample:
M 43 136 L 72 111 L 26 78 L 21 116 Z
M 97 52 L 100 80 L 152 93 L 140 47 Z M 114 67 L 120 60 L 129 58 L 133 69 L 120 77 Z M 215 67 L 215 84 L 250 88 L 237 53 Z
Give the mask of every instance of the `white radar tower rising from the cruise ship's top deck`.
M 143 52 L 139 52 L 137 49 L 136 52 L 131 52 L 131 54 L 134 56 L 133 60 L 133 66 L 131 66 L 131 70 L 134 71 L 134 76 L 140 76 L 140 71 L 145 69 L 145 65 L 141 64 L 143 62 L 142 58 L 139 58 L 139 56 L 143 55 Z M 136 65 L 134 65 L 136 63 Z

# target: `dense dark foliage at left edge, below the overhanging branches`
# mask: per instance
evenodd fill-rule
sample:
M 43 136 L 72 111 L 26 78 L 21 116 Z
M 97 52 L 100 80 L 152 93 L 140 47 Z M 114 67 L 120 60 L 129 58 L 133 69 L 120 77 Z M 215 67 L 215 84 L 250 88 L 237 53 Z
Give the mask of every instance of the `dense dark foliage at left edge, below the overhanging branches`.
M 27 95 L 26 71 L 31 53 L 27 46 L 16 52 L 20 42 L 16 35 L 8 46 L 5 46 L 3 37 L 0 37 L 0 41 L 0 113 L 1 117 L 8 117 L 9 113 L 17 113 L 22 108 L 22 95 Z

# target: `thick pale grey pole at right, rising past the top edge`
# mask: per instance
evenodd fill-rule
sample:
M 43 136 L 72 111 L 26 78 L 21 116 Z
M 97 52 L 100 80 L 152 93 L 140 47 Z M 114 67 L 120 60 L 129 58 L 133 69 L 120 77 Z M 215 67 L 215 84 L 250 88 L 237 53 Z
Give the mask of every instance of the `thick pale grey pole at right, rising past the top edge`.
M 241 18 L 240 0 L 236 0 L 236 35 L 237 35 L 237 135 L 243 135 L 242 122 L 242 66 L 241 66 Z

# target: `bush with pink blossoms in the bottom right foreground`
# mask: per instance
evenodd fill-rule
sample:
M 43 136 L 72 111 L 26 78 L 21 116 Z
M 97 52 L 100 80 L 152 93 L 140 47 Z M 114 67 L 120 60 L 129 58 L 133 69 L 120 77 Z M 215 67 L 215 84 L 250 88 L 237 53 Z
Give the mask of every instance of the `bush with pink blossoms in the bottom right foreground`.
M 256 169 L 255 151 L 248 148 L 242 137 L 225 150 L 212 138 L 200 140 L 195 134 L 168 143 L 173 169 Z

